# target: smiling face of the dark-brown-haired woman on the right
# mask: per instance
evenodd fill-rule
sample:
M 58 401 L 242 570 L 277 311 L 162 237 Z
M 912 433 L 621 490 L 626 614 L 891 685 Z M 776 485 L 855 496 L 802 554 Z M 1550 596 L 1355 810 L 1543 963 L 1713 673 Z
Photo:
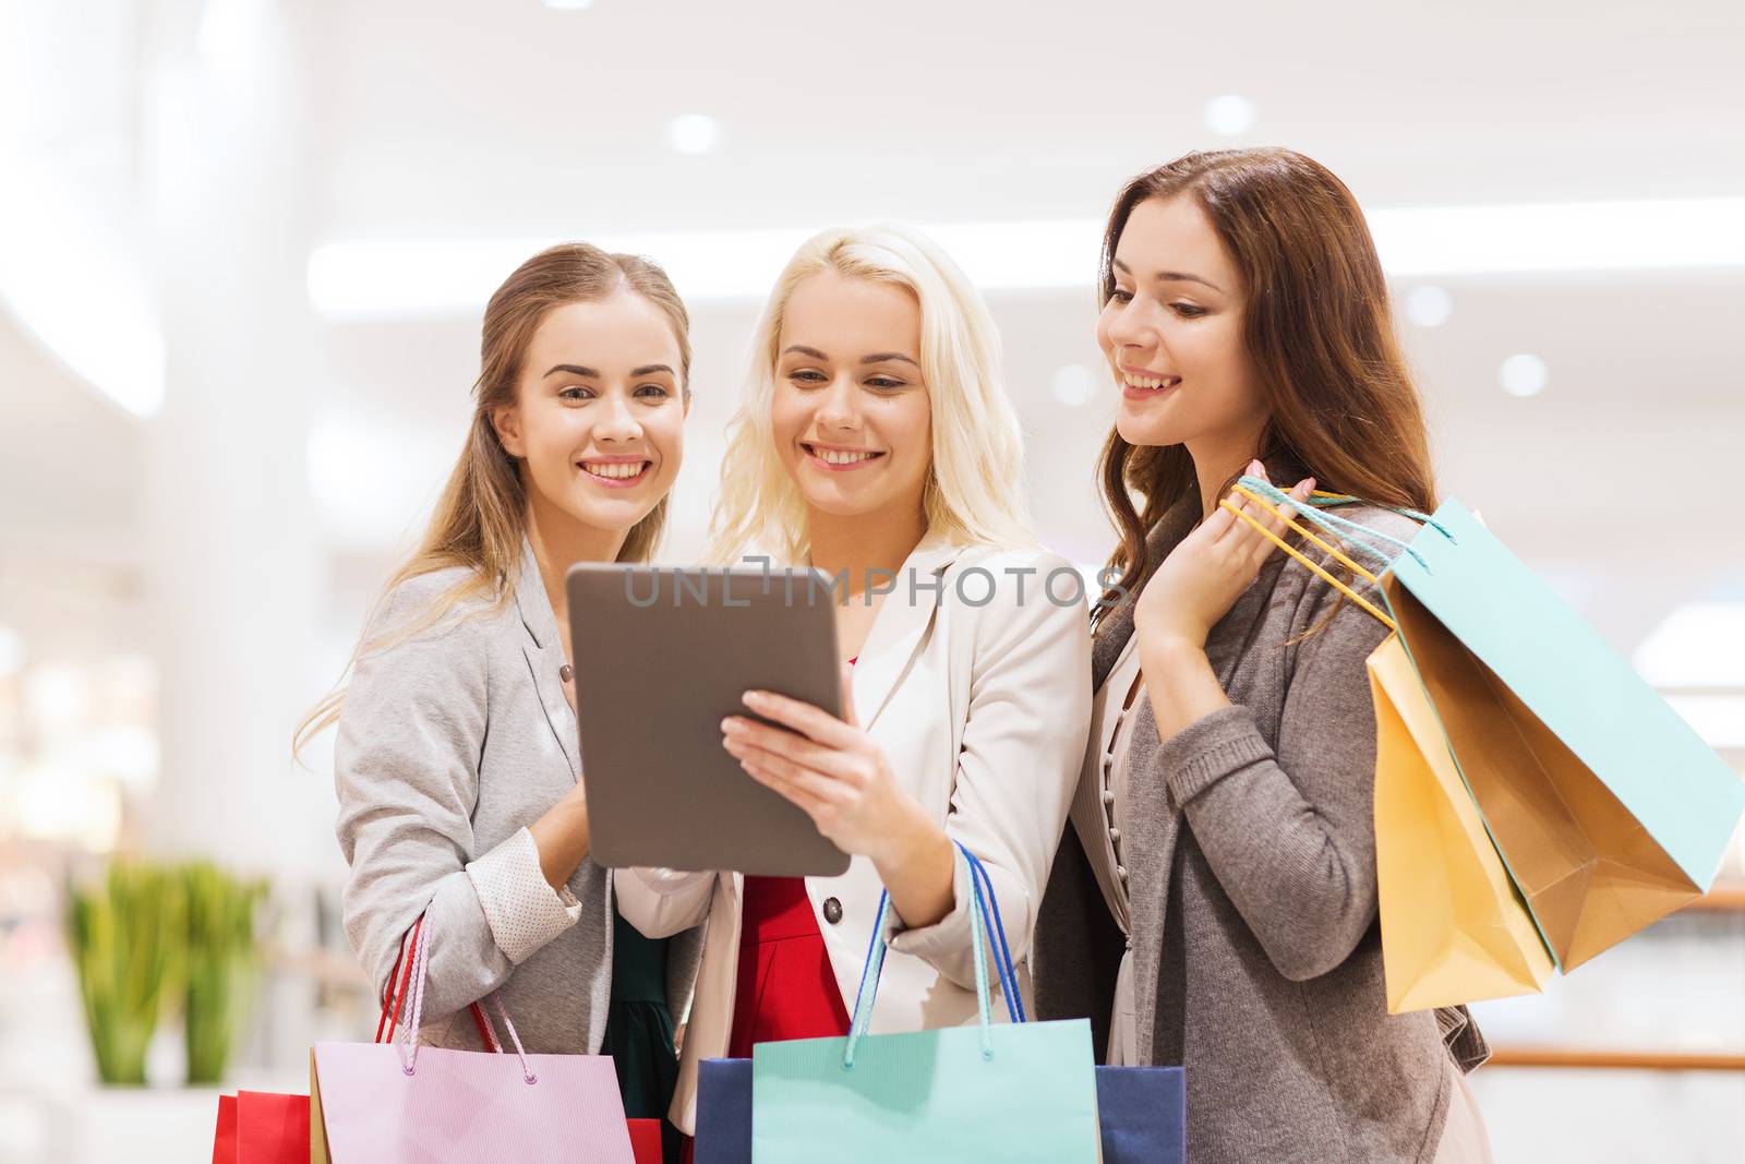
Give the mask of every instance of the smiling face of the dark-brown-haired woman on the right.
M 1133 208 L 1113 281 L 1096 337 L 1122 389 L 1120 438 L 1253 455 L 1267 415 L 1242 342 L 1242 274 L 1192 194 Z

